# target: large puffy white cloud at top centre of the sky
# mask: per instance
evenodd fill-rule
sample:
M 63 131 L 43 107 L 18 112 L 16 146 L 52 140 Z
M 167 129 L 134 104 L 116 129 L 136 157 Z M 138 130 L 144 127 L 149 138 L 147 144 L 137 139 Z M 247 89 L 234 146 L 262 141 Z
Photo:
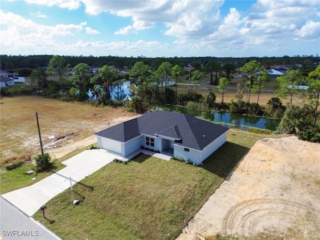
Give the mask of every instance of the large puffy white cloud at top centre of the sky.
M 116 34 L 130 34 L 150 29 L 164 23 L 166 35 L 199 38 L 211 33 L 219 20 L 219 7 L 224 0 L 139 0 L 104 1 L 82 0 L 89 14 L 110 12 L 121 17 L 131 17 L 133 24 L 123 26 Z

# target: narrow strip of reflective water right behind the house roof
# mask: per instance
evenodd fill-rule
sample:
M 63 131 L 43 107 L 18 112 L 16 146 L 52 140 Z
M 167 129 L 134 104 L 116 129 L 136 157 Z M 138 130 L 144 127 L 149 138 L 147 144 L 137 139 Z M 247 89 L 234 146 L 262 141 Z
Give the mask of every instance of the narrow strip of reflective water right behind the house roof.
M 187 109 L 185 107 L 180 107 L 180 106 L 164 105 L 164 104 L 157 104 L 157 103 L 150 103 L 150 106 L 153 109 L 185 113 L 201 119 L 209 119 L 213 122 L 225 122 L 225 123 L 235 124 L 238 126 L 243 126 L 243 125 L 253 126 L 253 127 L 258 127 L 262 129 L 268 129 L 268 130 L 276 130 L 280 123 L 279 119 L 259 117 L 259 116 L 248 116 L 248 115 L 242 115 L 241 113 L 234 113 L 234 112 L 220 112 L 220 111 L 213 111 L 213 110 L 211 111 L 210 110 L 194 110 L 194 109 Z

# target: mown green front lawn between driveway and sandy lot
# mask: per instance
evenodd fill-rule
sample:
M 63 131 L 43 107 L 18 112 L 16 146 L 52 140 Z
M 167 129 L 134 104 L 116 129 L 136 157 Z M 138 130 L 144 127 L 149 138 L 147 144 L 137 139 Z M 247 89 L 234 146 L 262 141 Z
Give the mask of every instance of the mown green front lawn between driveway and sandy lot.
M 230 129 L 200 167 L 147 155 L 111 162 L 47 202 L 46 219 L 33 217 L 62 239 L 175 239 L 262 136 Z

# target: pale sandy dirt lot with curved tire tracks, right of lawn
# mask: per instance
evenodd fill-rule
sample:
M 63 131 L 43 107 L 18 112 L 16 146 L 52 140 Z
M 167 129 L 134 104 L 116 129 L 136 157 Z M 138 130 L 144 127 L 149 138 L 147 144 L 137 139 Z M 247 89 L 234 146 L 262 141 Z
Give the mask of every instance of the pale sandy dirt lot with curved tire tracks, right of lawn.
M 258 232 L 320 239 L 320 144 L 262 138 L 188 222 L 177 240 Z M 280 238 L 281 239 L 281 238 Z

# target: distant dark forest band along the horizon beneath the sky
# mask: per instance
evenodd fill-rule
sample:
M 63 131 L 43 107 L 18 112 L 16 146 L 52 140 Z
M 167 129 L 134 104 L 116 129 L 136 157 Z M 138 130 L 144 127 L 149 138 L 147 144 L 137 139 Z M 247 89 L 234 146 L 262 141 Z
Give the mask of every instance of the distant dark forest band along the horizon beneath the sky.
M 7 71 L 20 71 L 20 74 L 28 76 L 30 74 L 30 69 L 34 69 L 36 67 L 47 67 L 49 64 L 49 60 L 53 57 L 53 55 L 0 55 L 0 67 L 3 70 Z M 205 57 L 145 57 L 145 56 L 137 56 L 137 57 L 126 57 L 126 56 L 68 56 L 64 55 L 63 58 L 70 64 L 70 67 L 74 67 L 78 63 L 86 63 L 89 66 L 102 67 L 103 65 L 114 65 L 118 68 L 123 68 L 123 66 L 132 67 L 133 64 L 137 61 L 142 61 L 147 65 L 150 65 L 154 68 L 158 68 L 158 66 L 164 62 L 168 61 L 172 65 L 178 64 L 179 66 L 187 66 L 191 64 L 193 67 L 198 68 L 199 66 L 207 66 L 209 62 L 211 62 L 210 68 L 212 68 L 212 72 L 218 67 L 212 63 L 212 61 L 217 61 L 220 65 L 224 65 L 226 63 L 232 63 L 235 67 L 241 67 L 245 63 L 256 60 L 263 64 L 265 68 L 270 68 L 271 65 L 298 65 L 306 62 L 314 63 L 320 61 L 320 57 L 313 55 L 294 55 L 287 56 L 284 55 L 282 57 L 214 57 L 214 56 L 205 56 Z M 304 64 L 305 65 L 305 64 Z M 22 69 L 21 69 L 22 68 Z M 215 78 L 216 79 L 216 78 Z

